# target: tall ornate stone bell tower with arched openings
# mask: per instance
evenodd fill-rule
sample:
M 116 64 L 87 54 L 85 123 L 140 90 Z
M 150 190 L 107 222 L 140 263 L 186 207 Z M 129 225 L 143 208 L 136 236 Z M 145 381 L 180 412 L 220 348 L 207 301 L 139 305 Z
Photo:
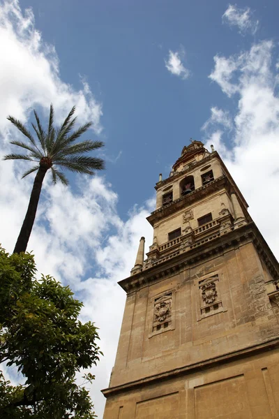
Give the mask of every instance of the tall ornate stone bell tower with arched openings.
M 156 191 L 104 419 L 279 418 L 279 267 L 246 200 L 199 141 Z

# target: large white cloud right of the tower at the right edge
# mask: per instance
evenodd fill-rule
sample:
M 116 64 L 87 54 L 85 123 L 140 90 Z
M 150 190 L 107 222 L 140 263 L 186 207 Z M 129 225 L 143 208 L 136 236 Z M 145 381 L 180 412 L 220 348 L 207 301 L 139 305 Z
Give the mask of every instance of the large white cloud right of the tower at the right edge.
M 227 97 L 234 96 L 229 152 L 219 124 L 214 124 L 214 119 L 219 122 L 216 115 L 211 115 L 210 124 L 206 122 L 205 136 L 210 128 L 211 138 L 206 140 L 215 141 L 217 151 L 250 205 L 250 214 L 278 257 L 279 97 L 274 88 L 277 80 L 273 72 L 274 49 L 272 41 L 262 41 L 236 56 L 215 57 L 215 68 L 209 77 Z M 224 72 L 220 68 L 230 70 Z

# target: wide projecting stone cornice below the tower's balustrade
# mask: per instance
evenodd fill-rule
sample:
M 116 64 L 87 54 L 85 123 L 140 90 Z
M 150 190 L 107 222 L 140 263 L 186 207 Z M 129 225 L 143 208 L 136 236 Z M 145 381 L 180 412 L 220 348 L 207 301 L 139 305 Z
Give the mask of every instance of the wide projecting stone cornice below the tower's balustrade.
M 274 280 L 278 280 L 278 261 L 255 223 L 251 221 L 244 226 L 230 230 L 225 235 L 214 234 L 212 238 L 208 237 L 208 240 L 193 247 L 193 249 L 187 251 L 178 249 L 173 254 L 168 255 L 162 262 L 155 260 L 151 267 L 142 269 L 131 277 L 119 281 L 119 285 L 126 293 L 133 293 L 144 286 L 172 276 L 179 270 L 185 269 L 186 266 L 193 266 L 199 260 L 206 260 L 206 258 L 212 258 L 213 255 L 223 254 L 225 251 L 235 249 L 248 242 L 255 244 L 259 256 L 266 264 L 271 276 Z

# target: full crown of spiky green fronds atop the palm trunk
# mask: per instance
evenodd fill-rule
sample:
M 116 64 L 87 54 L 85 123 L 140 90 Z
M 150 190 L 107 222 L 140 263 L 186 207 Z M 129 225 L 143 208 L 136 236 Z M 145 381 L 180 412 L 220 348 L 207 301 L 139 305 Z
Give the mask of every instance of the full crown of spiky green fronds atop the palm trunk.
M 74 113 L 75 106 L 70 110 L 63 124 L 61 124 L 59 128 L 56 128 L 54 127 L 54 108 L 51 104 L 48 126 L 44 131 L 43 126 L 40 124 L 38 114 L 36 110 L 34 110 L 36 118 L 36 124 L 32 123 L 33 129 L 36 132 L 36 137 L 34 138 L 20 121 L 9 116 L 8 120 L 29 139 L 31 144 L 17 140 L 12 141 L 11 144 L 22 147 L 27 150 L 28 153 L 27 155 L 7 154 L 3 159 L 36 161 L 36 166 L 24 172 L 23 177 L 38 170 L 40 167 L 38 163 L 40 162 L 40 159 L 45 156 L 51 159 L 55 166 L 61 166 L 61 170 L 68 169 L 72 172 L 86 173 L 89 175 L 93 175 L 95 170 L 103 170 L 105 168 L 103 159 L 84 155 L 103 147 L 104 144 L 102 141 L 86 140 L 75 143 L 75 140 L 80 138 L 80 136 L 90 128 L 92 123 L 87 122 L 73 131 L 76 121 Z M 66 176 L 63 175 L 63 172 L 57 170 L 54 166 L 51 167 L 51 170 L 53 183 L 56 183 L 59 180 L 64 185 L 68 184 L 68 180 Z

